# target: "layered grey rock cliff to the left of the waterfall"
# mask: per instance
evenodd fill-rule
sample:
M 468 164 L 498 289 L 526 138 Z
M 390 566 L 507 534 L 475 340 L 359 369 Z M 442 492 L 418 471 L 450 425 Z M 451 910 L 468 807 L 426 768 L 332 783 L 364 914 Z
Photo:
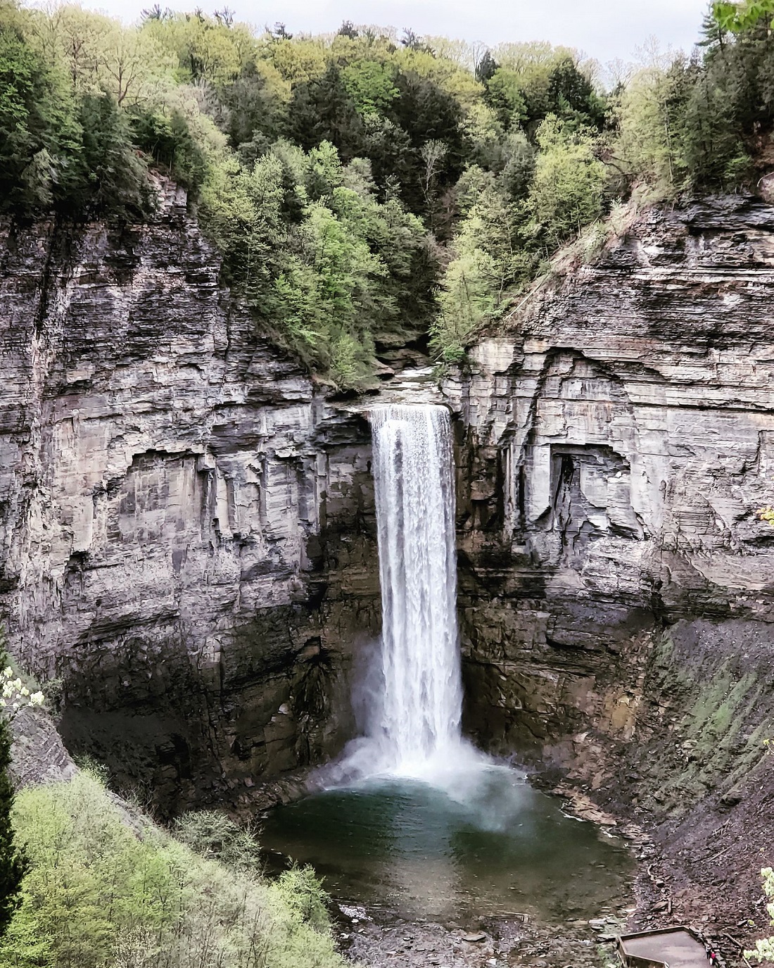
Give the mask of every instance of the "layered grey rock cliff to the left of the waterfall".
M 255 335 L 171 187 L 0 254 L 3 606 L 71 750 L 167 811 L 334 752 L 379 621 L 366 421 Z

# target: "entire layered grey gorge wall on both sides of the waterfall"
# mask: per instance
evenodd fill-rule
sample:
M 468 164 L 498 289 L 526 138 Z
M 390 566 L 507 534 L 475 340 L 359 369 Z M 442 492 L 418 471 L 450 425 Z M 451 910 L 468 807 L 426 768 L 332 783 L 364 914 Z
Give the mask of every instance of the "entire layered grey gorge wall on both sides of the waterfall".
M 171 813 L 334 755 L 380 609 L 369 402 L 257 335 L 165 191 L 145 227 L 2 229 L 0 604 L 71 751 Z M 774 209 L 652 210 L 443 387 L 467 730 L 699 858 L 741 831 L 750 892 L 774 838 L 772 291 Z

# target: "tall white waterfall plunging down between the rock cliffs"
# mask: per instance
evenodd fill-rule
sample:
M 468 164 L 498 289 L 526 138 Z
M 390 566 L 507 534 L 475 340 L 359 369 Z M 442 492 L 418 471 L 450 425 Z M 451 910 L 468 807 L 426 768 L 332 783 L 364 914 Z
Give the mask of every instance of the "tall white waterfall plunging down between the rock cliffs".
M 451 421 L 388 405 L 371 424 L 382 636 L 369 739 L 380 771 L 421 773 L 461 750 Z

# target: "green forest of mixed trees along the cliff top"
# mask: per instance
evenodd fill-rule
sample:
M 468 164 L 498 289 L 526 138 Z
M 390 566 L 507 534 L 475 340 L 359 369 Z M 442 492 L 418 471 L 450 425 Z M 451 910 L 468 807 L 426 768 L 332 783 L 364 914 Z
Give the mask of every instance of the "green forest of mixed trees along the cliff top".
M 758 177 L 774 123 L 766 3 L 718 4 L 690 58 L 603 84 L 571 49 L 255 34 L 227 10 L 124 27 L 0 0 L 0 206 L 143 220 L 190 193 L 261 325 L 340 388 L 431 337 L 461 356 L 545 260 L 633 192 Z M 699 28 L 699 25 L 698 25 Z

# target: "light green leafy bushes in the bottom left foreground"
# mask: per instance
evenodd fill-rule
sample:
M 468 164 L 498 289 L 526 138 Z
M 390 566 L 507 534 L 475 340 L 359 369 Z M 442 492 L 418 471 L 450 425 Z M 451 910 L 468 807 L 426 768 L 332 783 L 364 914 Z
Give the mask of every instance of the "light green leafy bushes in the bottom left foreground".
M 30 869 L 21 907 L 0 940 L 3 966 L 343 964 L 312 871 L 268 882 L 245 862 L 250 845 L 227 821 L 189 818 L 184 835 L 209 832 L 195 851 L 127 816 L 85 772 L 22 791 L 14 819 Z

